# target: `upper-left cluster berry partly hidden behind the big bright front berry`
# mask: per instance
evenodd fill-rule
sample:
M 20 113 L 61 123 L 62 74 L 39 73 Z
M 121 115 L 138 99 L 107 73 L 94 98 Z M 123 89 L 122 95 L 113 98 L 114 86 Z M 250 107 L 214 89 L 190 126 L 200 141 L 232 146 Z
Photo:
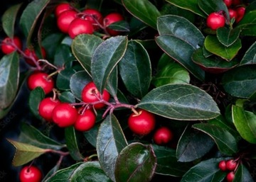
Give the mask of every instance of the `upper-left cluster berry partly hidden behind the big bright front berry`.
M 63 11 L 57 19 L 57 25 L 60 31 L 68 33 L 70 23 L 77 17 L 77 12 L 74 10 Z

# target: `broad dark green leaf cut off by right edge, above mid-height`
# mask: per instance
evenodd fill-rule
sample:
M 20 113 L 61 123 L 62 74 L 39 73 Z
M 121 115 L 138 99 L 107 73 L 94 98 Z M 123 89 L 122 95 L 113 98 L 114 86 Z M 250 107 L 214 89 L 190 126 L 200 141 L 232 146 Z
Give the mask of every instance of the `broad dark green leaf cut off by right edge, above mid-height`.
M 236 67 L 223 75 L 221 84 L 227 93 L 240 98 L 249 98 L 256 91 L 256 66 Z

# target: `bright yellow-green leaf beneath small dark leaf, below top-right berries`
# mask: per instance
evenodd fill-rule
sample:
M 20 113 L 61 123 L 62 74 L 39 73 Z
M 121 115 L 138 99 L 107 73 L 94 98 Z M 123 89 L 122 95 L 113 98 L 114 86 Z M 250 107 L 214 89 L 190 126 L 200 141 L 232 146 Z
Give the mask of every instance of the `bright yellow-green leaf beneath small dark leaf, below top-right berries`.
M 218 55 L 227 61 L 230 61 L 238 54 L 238 51 L 242 47 L 241 40 L 236 40 L 233 45 L 225 47 L 221 44 L 218 38 L 214 35 L 208 35 L 204 43 L 206 50 L 212 52 L 214 55 Z

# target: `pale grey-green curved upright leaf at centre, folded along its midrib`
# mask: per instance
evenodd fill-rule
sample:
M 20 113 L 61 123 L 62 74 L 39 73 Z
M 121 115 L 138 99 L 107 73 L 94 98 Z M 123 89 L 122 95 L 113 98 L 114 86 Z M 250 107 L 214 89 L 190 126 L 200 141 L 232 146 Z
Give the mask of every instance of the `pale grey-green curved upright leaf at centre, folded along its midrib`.
M 107 84 L 107 79 L 114 67 L 124 56 L 128 39 L 125 36 L 115 36 L 102 42 L 92 56 L 92 80 L 97 89 L 102 93 Z

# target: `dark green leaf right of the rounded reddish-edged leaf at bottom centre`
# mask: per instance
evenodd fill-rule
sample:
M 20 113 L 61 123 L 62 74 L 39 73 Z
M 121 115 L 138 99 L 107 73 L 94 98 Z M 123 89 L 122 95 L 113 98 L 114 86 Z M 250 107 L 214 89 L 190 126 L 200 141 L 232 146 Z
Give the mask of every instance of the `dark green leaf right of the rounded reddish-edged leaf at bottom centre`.
M 179 162 L 176 158 L 175 149 L 154 144 L 156 154 L 156 174 L 181 177 L 191 168 L 191 164 Z

